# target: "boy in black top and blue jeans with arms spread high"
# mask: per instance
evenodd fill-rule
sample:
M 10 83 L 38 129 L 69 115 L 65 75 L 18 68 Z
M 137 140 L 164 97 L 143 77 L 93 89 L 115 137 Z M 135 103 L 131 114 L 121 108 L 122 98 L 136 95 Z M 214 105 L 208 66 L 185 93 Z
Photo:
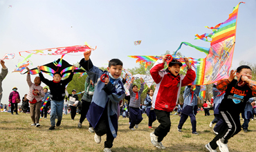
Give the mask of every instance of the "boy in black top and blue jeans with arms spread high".
M 60 72 L 55 72 L 53 74 L 53 81 L 50 81 L 46 78 L 44 78 L 44 75 L 41 73 L 40 66 L 37 66 L 37 69 L 39 71 L 39 77 L 46 84 L 49 86 L 51 93 L 51 127 L 49 130 L 55 129 L 55 117 L 57 114 L 57 124 L 56 126 L 60 126 L 62 122 L 62 112 L 64 107 L 64 97 L 65 97 L 65 87 L 66 84 L 71 82 L 75 66 L 72 68 L 71 75 L 69 75 L 68 78 L 62 80 L 62 74 Z

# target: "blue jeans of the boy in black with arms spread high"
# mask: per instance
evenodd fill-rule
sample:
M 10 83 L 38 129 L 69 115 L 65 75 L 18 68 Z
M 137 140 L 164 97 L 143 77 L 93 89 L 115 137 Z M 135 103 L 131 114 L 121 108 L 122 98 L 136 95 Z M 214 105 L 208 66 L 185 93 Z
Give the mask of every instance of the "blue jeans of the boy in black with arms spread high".
M 55 126 L 55 118 L 57 114 L 57 120 L 62 121 L 62 112 L 64 106 L 64 99 L 61 101 L 53 100 L 51 101 L 51 125 Z

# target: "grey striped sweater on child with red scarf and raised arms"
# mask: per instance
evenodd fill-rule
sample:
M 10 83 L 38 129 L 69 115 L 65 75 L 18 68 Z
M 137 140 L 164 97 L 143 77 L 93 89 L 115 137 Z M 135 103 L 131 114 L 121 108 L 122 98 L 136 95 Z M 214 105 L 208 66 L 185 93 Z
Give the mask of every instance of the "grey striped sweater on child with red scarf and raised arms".
M 130 84 L 130 86 L 129 86 L 129 92 L 130 92 L 130 97 L 131 97 L 129 107 L 140 108 L 140 95 L 141 95 L 141 93 L 143 93 L 144 85 L 140 84 L 140 90 L 138 91 L 138 99 L 135 99 L 136 93 L 134 93 L 134 91 L 132 91 L 132 86 L 133 86 L 133 84 Z

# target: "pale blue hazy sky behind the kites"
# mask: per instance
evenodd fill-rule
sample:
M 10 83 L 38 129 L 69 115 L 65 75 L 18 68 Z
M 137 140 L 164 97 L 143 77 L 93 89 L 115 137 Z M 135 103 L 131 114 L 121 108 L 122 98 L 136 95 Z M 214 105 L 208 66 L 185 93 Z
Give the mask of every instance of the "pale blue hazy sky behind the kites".
M 210 33 L 205 26 L 226 21 L 240 1 L 0 0 L 0 57 L 15 53 L 14 59 L 5 60 L 9 73 L 3 80 L 1 103 L 8 104 L 13 87 L 18 88 L 21 97 L 28 93 L 26 75 L 12 73 L 23 59 L 20 51 L 77 46 L 86 41 L 93 48 L 97 46 L 91 53 L 95 66 L 106 66 L 108 60 L 118 58 L 123 68 L 134 68 L 138 66 L 136 59 L 128 55 L 163 55 L 166 50 L 172 53 L 182 41 L 209 48 L 210 43 L 194 40 L 194 35 Z M 256 64 L 256 1 L 244 2 L 239 6 L 232 68 L 237 68 L 239 61 Z M 134 41 L 138 40 L 142 42 L 135 46 Z M 185 57 L 205 57 L 205 53 L 189 46 L 183 46 L 179 52 Z M 60 57 L 33 55 L 29 68 Z M 82 53 L 64 56 L 70 64 L 82 58 Z M 52 79 L 48 75 L 46 78 Z

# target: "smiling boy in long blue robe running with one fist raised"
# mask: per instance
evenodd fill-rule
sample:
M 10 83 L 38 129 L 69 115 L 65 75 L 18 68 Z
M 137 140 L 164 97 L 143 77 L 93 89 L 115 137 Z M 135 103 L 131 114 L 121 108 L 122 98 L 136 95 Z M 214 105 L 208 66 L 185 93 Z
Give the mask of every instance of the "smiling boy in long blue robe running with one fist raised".
M 80 66 L 86 70 L 95 85 L 93 99 L 86 118 L 94 128 L 95 142 L 100 144 L 101 136 L 107 134 L 104 151 L 111 151 L 114 137 L 118 132 L 119 102 L 125 97 L 125 88 L 120 79 L 122 61 L 111 59 L 108 71 L 102 71 L 93 66 L 90 55 L 91 50 L 84 52 L 84 59 L 80 61 Z M 100 81 L 101 75 L 105 74 L 109 75 L 109 78 L 104 79 L 104 82 Z

